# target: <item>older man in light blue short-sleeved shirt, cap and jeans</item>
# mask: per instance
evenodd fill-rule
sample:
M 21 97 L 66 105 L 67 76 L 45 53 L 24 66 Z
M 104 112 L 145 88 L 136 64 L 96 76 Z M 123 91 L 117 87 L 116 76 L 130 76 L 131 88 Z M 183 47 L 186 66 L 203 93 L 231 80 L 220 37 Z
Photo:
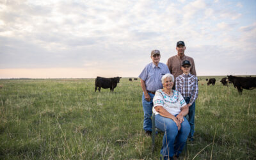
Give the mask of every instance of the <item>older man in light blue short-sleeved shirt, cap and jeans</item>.
M 161 58 L 160 51 L 153 50 L 151 52 L 152 63 L 149 63 L 140 74 L 140 83 L 143 90 L 142 106 L 144 111 L 143 129 L 150 136 L 152 132 L 152 107 L 153 98 L 156 90 L 163 88 L 161 78 L 164 74 L 170 73 L 168 67 L 159 62 Z

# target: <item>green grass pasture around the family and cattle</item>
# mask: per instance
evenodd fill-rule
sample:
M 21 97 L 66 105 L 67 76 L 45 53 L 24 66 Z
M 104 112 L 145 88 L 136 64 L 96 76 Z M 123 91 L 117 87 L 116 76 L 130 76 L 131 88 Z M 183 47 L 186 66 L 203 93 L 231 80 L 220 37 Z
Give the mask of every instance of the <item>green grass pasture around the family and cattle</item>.
M 256 90 L 199 77 L 195 142 L 181 159 L 256 159 Z M 0 80 L 0 159 L 159 159 L 143 131 L 139 81 L 94 93 L 94 79 Z

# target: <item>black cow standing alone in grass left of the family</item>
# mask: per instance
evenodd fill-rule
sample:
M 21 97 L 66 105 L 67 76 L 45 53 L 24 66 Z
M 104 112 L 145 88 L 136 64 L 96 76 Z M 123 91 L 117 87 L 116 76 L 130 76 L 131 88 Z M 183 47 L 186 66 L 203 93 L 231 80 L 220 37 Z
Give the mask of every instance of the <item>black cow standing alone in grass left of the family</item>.
M 114 92 L 114 88 L 116 88 L 117 83 L 119 83 L 120 78 L 122 77 L 112 77 L 112 78 L 104 78 L 104 77 L 97 77 L 95 79 L 95 92 L 97 91 L 97 88 L 110 88 L 110 92 Z

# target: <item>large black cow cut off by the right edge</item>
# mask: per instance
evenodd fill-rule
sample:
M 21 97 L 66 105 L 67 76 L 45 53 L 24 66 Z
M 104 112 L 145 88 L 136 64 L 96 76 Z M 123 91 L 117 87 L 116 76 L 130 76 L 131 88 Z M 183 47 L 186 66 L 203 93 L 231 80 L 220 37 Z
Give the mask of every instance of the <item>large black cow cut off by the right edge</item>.
M 228 76 L 228 81 L 232 82 L 238 93 L 242 94 L 243 89 L 253 90 L 256 88 L 256 77 L 236 77 Z

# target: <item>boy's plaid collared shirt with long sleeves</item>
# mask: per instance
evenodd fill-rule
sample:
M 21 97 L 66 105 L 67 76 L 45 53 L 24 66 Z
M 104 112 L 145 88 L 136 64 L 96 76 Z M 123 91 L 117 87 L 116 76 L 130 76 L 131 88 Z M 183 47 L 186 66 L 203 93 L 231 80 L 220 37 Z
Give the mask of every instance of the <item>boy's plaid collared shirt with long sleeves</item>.
M 189 103 L 193 104 L 198 97 L 197 77 L 193 74 L 182 74 L 176 78 L 176 90 L 183 97 L 191 97 Z

